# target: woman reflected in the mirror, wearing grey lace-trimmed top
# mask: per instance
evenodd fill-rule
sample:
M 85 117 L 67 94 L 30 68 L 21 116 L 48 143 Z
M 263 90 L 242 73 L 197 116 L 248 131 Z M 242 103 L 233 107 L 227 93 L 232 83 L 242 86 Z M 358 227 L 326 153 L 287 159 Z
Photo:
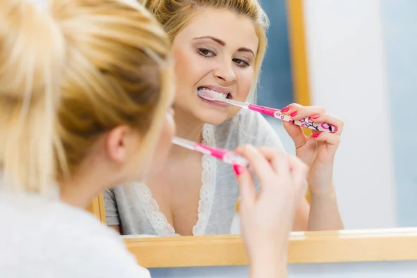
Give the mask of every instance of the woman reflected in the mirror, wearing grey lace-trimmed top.
M 282 149 L 279 137 L 259 113 L 219 106 L 197 95 L 198 90 L 210 89 L 245 101 L 254 91 L 266 47 L 267 18 L 259 2 L 154 0 L 148 8 L 172 41 L 178 135 L 224 149 L 245 143 Z M 282 111 L 293 120 L 311 117 L 338 127 L 334 134 L 307 138 L 299 126 L 284 123 L 297 156 L 310 166 L 311 206 L 302 202 L 293 229 L 343 229 L 333 184 L 343 122 L 314 106 L 291 104 Z M 122 234 L 229 234 L 238 184 L 228 165 L 176 146 L 167 161 L 146 184 L 131 183 L 106 192 L 108 225 Z

